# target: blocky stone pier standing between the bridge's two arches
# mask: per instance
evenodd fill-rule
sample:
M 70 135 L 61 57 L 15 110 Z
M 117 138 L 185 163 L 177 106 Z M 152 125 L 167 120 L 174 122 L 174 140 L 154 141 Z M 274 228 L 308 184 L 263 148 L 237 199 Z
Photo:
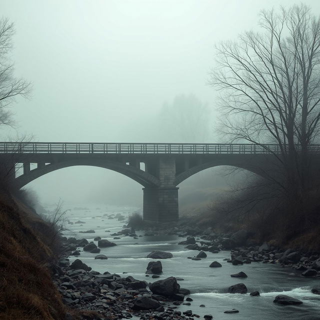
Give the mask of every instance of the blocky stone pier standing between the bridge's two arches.
M 179 217 L 178 188 L 143 188 L 143 220 L 177 221 Z

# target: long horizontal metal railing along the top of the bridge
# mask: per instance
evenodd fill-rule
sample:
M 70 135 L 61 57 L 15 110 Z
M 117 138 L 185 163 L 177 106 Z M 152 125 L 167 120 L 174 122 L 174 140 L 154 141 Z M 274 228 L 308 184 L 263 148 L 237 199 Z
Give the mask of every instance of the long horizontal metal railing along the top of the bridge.
M 320 153 L 320 145 L 310 145 L 309 151 Z M 280 149 L 277 144 L 249 143 L 0 142 L 0 153 L 245 154 L 280 153 Z

